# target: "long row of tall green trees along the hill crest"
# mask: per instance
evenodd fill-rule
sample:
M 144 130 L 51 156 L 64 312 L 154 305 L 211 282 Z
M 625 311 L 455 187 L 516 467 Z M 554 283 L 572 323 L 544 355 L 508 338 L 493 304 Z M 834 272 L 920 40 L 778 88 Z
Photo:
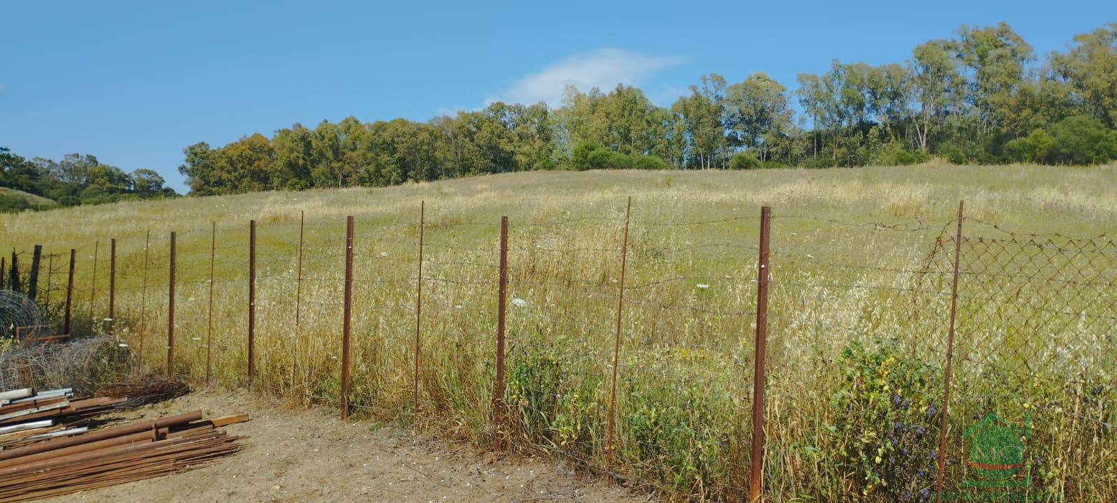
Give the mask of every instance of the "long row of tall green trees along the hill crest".
M 191 193 L 390 186 L 552 169 L 748 169 L 1117 159 L 1117 23 L 1042 63 L 1009 25 L 963 26 L 904 63 L 833 61 L 789 91 L 703 76 L 670 107 L 618 85 L 562 106 L 493 103 L 427 122 L 347 117 L 184 150 Z M 796 107 L 798 105 L 798 107 Z

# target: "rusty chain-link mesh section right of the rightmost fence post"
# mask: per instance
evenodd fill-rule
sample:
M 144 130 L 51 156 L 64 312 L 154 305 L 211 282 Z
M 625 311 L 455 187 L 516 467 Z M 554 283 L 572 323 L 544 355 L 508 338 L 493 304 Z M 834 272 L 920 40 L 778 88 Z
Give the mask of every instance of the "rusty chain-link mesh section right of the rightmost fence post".
M 948 486 L 1090 501 L 1117 466 L 1117 244 L 965 225 Z

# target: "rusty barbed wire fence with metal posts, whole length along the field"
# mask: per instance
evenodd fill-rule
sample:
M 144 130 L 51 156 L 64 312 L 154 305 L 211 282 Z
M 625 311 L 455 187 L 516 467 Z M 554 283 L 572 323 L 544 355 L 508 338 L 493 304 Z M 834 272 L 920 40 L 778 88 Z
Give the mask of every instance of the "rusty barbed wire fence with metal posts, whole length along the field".
M 503 227 L 422 205 L 352 234 L 303 213 L 214 221 L 175 232 L 174 249 L 147 231 L 76 246 L 78 285 L 51 296 L 73 297 L 78 317 L 88 302 L 75 335 L 107 333 L 142 364 L 410 418 L 696 499 L 841 499 L 852 486 L 932 501 L 986 474 L 966 431 L 990 414 L 1032 415 L 1027 469 L 1010 474 L 1029 491 L 1077 501 L 1117 486 L 1072 475 L 1114 462 L 1109 237 L 1021 234 L 961 212 L 930 226 L 737 213 L 676 221 L 637 205 Z M 885 397 L 898 411 L 881 414 L 907 421 L 899 433 L 842 419 L 866 389 L 842 373 L 860 347 L 895 348 L 880 354 L 904 372 L 926 368 L 918 397 Z M 911 387 L 888 379 L 875 392 Z M 834 433 L 855 430 L 881 434 L 881 466 L 827 466 L 847 447 Z

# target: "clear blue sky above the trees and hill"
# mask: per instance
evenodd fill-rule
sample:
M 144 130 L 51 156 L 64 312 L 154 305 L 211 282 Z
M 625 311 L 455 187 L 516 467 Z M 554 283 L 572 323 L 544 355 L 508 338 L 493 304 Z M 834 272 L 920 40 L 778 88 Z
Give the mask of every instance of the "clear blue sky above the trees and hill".
M 554 102 L 564 83 L 661 105 L 707 73 L 793 87 L 832 59 L 901 63 L 963 23 L 1006 21 L 1043 55 L 1117 21 L 1117 1 L 50 1 L 0 19 L 0 145 L 154 169 L 182 192 L 199 141 Z

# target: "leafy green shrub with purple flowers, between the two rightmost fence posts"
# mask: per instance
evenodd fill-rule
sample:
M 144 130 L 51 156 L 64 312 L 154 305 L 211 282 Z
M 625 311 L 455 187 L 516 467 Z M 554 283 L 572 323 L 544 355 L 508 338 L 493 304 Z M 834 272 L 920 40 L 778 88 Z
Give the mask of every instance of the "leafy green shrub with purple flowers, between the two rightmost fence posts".
M 894 343 L 876 345 L 853 342 L 841 352 L 832 398 L 839 419 L 830 428 L 836 457 L 863 496 L 930 501 L 937 453 L 928 439 L 938 431 L 942 372 Z

